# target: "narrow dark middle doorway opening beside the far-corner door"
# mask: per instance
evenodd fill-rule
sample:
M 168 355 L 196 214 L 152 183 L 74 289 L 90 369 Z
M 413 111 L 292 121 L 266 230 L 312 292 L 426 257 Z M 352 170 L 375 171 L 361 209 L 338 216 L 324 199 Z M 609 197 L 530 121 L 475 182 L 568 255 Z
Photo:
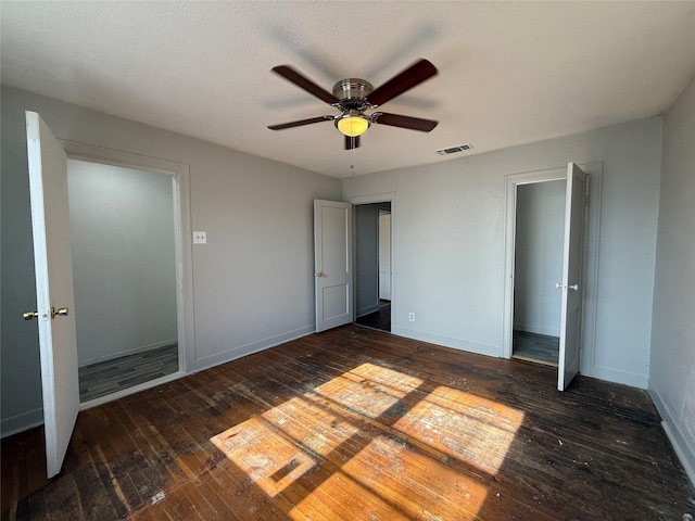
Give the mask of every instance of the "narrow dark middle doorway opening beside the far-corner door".
M 355 212 L 356 322 L 391 331 L 391 202 L 357 204 Z

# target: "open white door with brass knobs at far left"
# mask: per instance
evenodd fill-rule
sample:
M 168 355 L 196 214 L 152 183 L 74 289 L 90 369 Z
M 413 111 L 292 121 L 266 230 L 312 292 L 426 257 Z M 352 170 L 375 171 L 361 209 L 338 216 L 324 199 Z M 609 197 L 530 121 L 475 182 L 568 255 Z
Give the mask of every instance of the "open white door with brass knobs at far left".
M 58 474 L 79 411 L 67 156 L 35 112 L 26 113 L 36 312 L 41 355 L 46 467 Z

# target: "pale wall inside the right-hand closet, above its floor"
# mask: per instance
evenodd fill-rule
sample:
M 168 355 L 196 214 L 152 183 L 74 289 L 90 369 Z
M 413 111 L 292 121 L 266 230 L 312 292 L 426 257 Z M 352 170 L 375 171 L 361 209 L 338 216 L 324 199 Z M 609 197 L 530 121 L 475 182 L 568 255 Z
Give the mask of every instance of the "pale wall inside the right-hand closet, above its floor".
M 514 328 L 558 336 L 565 181 L 517 187 Z

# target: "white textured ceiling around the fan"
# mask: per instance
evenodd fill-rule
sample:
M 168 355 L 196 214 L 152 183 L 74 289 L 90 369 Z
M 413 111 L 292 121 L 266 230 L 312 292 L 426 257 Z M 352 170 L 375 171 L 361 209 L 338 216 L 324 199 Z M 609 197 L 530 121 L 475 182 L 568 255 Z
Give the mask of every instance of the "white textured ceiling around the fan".
M 467 154 L 664 113 L 695 74 L 695 2 L 8 2 L 2 82 L 336 177 Z M 375 87 L 419 58 L 439 76 L 384 104 L 430 134 L 372 126 L 355 151 L 326 90 Z

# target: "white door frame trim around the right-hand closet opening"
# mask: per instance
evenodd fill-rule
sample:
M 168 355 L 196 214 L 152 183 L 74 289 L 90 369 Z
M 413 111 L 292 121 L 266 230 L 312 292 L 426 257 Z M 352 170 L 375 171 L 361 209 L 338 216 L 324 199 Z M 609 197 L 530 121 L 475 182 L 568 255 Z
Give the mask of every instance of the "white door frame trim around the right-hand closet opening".
M 586 243 L 584 247 L 584 320 L 583 352 L 580 372 L 594 373 L 596 338 L 596 291 L 598 285 L 598 244 L 601 223 L 601 187 L 603 163 L 578 166 L 590 176 L 591 195 L 587 208 Z M 504 208 L 504 274 L 501 358 L 511 358 L 514 330 L 514 258 L 516 247 L 517 187 L 535 182 L 567 179 L 567 164 L 557 168 L 505 176 Z

